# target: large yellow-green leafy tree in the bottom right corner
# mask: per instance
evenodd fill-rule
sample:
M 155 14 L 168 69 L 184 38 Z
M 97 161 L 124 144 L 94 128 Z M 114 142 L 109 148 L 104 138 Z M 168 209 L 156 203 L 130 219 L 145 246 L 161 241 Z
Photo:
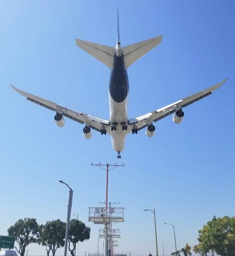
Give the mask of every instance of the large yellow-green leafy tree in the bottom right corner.
M 215 253 L 221 256 L 235 255 L 235 217 L 214 216 L 198 233 L 199 244 L 194 246 L 195 253 L 201 256 L 214 256 Z

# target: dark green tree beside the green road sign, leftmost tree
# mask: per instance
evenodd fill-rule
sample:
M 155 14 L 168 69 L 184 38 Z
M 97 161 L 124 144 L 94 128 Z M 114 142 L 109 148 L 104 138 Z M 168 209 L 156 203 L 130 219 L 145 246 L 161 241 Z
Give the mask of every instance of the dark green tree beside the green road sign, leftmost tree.
M 40 226 L 36 219 L 24 218 L 15 222 L 14 226 L 11 226 L 8 231 L 8 235 L 15 238 L 16 243 L 19 245 L 19 250 L 14 246 L 16 251 L 24 256 L 26 247 L 29 244 L 37 243 L 39 237 Z

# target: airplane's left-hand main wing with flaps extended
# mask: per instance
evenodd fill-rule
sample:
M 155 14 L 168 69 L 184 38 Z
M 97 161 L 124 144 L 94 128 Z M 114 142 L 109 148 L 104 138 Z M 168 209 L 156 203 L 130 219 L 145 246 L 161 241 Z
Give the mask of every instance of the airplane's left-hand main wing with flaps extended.
M 60 113 L 61 115 L 68 117 L 75 122 L 78 122 L 80 124 L 86 124 L 91 129 L 94 129 L 98 132 L 101 132 L 102 129 L 106 129 L 107 133 L 110 133 L 110 121 L 108 120 L 63 107 L 53 101 L 49 101 L 49 100 L 37 97 L 36 95 L 21 91 L 16 87 L 14 87 L 13 85 L 11 86 L 16 92 L 19 92 L 21 95 L 26 97 L 27 100 L 30 100 L 40 106 L 51 109 L 53 111 L 57 111 L 57 113 Z

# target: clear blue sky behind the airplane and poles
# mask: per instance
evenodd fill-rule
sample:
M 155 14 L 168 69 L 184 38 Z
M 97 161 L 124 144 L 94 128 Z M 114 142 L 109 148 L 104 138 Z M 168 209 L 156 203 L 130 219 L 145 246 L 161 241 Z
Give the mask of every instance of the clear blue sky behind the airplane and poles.
M 229 77 L 209 97 L 184 108 L 180 125 L 169 116 L 153 138 L 130 134 L 117 159 L 109 135 L 83 137 L 83 126 L 24 99 L 10 84 L 98 117 L 109 117 L 110 69 L 83 52 L 75 38 L 115 46 L 119 6 L 122 45 L 163 35 L 162 43 L 128 68 L 129 118 L 137 117 Z M 90 163 L 125 163 L 110 172 L 108 201 L 121 202 L 125 222 L 116 252 L 159 255 L 197 243 L 198 230 L 213 218 L 232 216 L 235 142 L 235 2 L 199 1 L 1 1 L 0 2 L 0 234 L 20 218 L 66 220 L 72 214 L 91 228 L 77 255 L 97 251 L 98 229 L 88 207 L 105 201 L 105 171 Z M 100 239 L 100 247 L 102 241 Z M 45 247 L 29 246 L 28 255 Z M 62 255 L 58 250 L 57 255 Z

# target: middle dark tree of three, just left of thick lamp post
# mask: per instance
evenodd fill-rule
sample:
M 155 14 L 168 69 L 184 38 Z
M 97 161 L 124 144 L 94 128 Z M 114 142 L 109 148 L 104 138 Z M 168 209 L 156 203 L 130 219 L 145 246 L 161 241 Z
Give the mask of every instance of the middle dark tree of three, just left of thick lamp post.
M 66 223 L 61 220 L 47 221 L 41 228 L 38 243 L 49 248 L 47 249 L 47 256 L 49 256 L 50 251 L 54 256 L 56 250 L 64 246 L 65 228 Z

